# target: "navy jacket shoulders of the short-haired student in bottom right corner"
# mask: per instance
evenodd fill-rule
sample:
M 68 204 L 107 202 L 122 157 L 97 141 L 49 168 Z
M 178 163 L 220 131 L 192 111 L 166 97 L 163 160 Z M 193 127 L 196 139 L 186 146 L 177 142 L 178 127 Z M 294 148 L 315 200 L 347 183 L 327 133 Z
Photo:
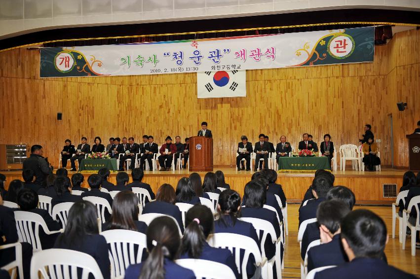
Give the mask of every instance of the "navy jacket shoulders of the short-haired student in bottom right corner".
M 315 279 L 409 279 L 415 276 L 387 265 L 381 259 L 355 258 L 335 268 L 329 268 L 315 274 Z

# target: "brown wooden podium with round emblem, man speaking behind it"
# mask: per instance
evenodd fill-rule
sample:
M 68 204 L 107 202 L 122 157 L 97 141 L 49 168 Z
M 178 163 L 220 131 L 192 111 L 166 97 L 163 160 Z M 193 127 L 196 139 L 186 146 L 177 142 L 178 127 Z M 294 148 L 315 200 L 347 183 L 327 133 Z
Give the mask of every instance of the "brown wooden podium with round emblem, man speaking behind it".
M 213 172 L 213 139 L 190 138 L 190 172 Z

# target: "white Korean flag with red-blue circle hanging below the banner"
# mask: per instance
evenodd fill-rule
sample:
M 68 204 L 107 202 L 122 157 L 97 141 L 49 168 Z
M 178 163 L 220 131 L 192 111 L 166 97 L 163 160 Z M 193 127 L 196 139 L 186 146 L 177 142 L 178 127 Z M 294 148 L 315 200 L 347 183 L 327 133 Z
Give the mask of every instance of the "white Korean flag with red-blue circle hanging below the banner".
M 246 97 L 245 70 L 197 72 L 197 98 Z

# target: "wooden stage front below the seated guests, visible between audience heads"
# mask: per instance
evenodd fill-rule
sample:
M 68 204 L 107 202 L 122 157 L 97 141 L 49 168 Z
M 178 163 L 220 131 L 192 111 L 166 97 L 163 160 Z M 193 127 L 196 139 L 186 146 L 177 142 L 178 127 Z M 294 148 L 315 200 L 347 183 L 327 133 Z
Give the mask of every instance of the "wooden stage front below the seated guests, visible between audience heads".
M 222 171 L 225 174 L 226 183 L 230 184 L 230 187 L 243 195 L 243 189 L 245 184 L 251 180 L 254 172 L 240 171 L 236 168 L 220 167 L 214 168 L 214 172 Z M 332 172 L 336 179 L 334 185 L 343 185 L 350 188 L 356 195 L 357 204 L 361 205 L 390 205 L 395 202 L 395 197 L 384 197 L 383 184 L 396 184 L 396 191 L 398 193 L 399 188 L 402 185 L 402 177 L 406 170 L 396 169 L 385 169 L 382 168 L 381 172 L 359 172 L 353 170 L 346 170 Z M 6 189 L 8 184 L 13 179 L 22 179 L 22 173 L 19 171 L 2 172 L 6 175 Z M 75 172 L 69 172 L 69 177 Z M 127 172 L 130 174 L 131 172 Z M 85 176 L 83 182 L 84 187 L 87 185 L 87 177 L 92 173 L 82 173 Z M 116 172 L 111 174 L 110 181 L 115 183 Z M 188 170 L 181 171 L 145 171 L 143 181 L 149 183 L 152 186 L 153 191 L 156 193 L 157 188 L 163 183 L 169 183 L 174 188 L 176 187 L 178 180 L 181 177 L 189 176 L 191 172 Z M 204 178 L 205 172 L 199 172 L 202 179 Z M 300 203 L 307 188 L 312 182 L 313 173 L 279 173 L 277 183 L 283 186 L 284 192 L 287 197 L 288 203 Z M 131 181 L 131 175 L 130 175 Z

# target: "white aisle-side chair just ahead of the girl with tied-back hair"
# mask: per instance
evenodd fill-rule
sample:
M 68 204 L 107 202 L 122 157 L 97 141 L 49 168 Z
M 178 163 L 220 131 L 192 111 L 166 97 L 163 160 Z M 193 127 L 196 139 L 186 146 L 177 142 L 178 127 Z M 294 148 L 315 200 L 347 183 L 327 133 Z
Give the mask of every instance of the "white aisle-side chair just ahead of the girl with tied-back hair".
M 265 244 L 266 244 L 266 239 L 267 239 L 267 235 L 269 234 L 271 237 L 271 242 L 273 244 L 275 244 L 275 254 L 271 259 L 267 259 L 267 268 L 268 268 L 268 278 L 273 278 L 273 267 L 274 267 L 274 262 L 275 262 L 275 266 L 276 266 L 276 273 L 277 273 L 277 277 L 281 278 L 281 267 L 282 267 L 282 261 L 281 259 L 283 258 L 283 255 L 281 255 L 281 235 L 279 238 L 276 238 L 276 234 L 275 234 L 275 230 L 273 225 L 263 219 L 259 219 L 259 218 L 250 218 L 250 217 L 242 217 L 239 218 L 242 221 L 251 223 L 255 230 L 257 231 L 257 236 L 260 236 L 260 231 L 263 232 L 263 236 L 261 237 L 261 254 L 262 257 L 267 257 L 266 256 L 266 248 L 265 248 Z M 280 275 L 280 276 L 279 276 Z

